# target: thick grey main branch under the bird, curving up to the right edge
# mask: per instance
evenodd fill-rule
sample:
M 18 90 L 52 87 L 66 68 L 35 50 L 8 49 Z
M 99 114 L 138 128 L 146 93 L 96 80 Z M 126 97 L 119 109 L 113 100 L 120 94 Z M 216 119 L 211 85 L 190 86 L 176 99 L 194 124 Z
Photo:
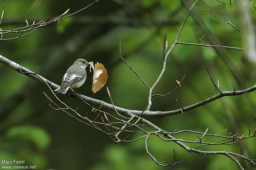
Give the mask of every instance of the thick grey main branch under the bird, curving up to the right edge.
M 40 83 L 43 83 L 44 84 L 44 81 L 48 83 L 48 85 L 51 87 L 51 88 L 58 88 L 59 85 L 56 85 L 55 83 L 49 81 L 48 79 L 44 78 L 41 76 L 41 78 L 44 80 L 42 81 L 40 78 L 38 78 L 36 75 L 34 74 L 26 74 L 26 73 L 34 73 L 33 71 L 31 70 L 28 70 L 27 68 L 9 60 L 8 58 L 5 58 L 4 56 L 0 55 L 0 62 L 1 63 L 4 63 L 5 65 L 11 67 L 12 69 L 18 71 L 19 73 L 21 74 L 25 74 L 26 76 L 40 82 Z M 186 111 L 189 111 L 189 110 L 192 110 L 194 108 L 197 108 L 197 107 L 200 107 L 200 106 L 203 106 L 207 103 L 210 103 L 214 100 L 217 100 L 217 99 L 220 99 L 221 97 L 225 97 L 225 96 L 237 96 L 237 95 L 242 95 L 242 94 L 246 94 L 246 93 L 249 93 L 249 92 L 253 92 L 256 90 L 256 86 L 252 86 L 250 88 L 247 88 L 247 89 L 244 89 L 244 90 L 239 90 L 239 91 L 226 91 L 226 92 L 222 92 L 222 93 L 219 93 L 219 94 L 216 94 L 212 97 L 209 97 L 205 100 L 202 100 L 202 101 L 199 101 L 195 104 L 192 104 L 192 105 L 189 105 L 187 107 L 183 107 L 182 111 L 183 113 L 186 112 Z M 111 110 L 111 111 L 114 111 L 114 108 L 113 108 L 113 105 L 110 104 L 110 103 L 107 103 L 103 100 L 97 100 L 97 99 L 94 99 L 94 98 L 91 98 L 91 97 L 88 97 L 88 96 L 84 96 L 82 94 L 76 94 L 74 92 L 70 92 L 68 91 L 67 93 L 67 96 L 68 97 L 71 97 L 71 98 L 76 98 L 76 99 L 79 99 L 79 100 L 84 100 L 90 104 L 93 104 L 93 105 L 96 105 L 97 107 L 100 107 L 102 105 L 103 108 L 106 108 L 108 110 Z M 177 110 L 171 110 L 171 111 L 148 111 L 148 110 L 145 110 L 145 111 L 140 111 L 140 110 L 130 110 L 130 109 L 125 109 L 125 108 L 122 108 L 122 107 L 117 107 L 115 106 L 115 109 L 116 111 L 118 111 L 120 114 L 122 115 L 126 115 L 128 112 L 131 112 L 132 114 L 135 114 L 135 115 L 138 115 L 138 116 L 142 116 L 142 117 L 164 117 L 164 116 L 170 116 L 170 115 L 177 115 L 177 114 L 180 114 L 181 113 L 181 109 L 177 109 Z

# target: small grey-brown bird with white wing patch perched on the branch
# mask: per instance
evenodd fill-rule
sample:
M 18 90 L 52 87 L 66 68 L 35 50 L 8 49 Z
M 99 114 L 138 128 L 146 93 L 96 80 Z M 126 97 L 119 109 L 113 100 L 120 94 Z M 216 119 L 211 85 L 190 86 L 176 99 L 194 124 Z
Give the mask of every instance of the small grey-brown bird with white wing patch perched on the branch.
M 89 63 L 83 58 L 77 59 L 73 65 L 71 65 L 67 72 L 64 74 L 61 82 L 61 86 L 54 91 L 62 94 L 66 94 L 69 87 L 78 88 L 84 84 L 86 79 L 86 67 Z

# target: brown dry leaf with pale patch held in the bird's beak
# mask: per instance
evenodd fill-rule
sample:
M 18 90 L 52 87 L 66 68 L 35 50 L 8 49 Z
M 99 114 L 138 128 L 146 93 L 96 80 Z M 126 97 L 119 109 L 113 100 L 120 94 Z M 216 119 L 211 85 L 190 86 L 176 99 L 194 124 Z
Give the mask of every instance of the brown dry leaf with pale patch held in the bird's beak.
M 92 77 L 92 92 L 98 92 L 107 82 L 108 73 L 104 65 L 101 63 L 95 64 Z

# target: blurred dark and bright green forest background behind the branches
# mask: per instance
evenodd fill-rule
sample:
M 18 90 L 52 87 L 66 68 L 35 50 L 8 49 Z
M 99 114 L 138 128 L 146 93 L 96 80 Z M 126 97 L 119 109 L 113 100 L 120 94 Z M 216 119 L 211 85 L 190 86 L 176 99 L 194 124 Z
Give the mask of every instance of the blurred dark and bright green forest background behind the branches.
M 68 8 L 68 14 L 87 6 L 92 1 L 64 0 L 0 0 L 0 12 L 4 18 L 3 30 L 26 26 L 29 23 L 54 18 Z M 255 9 L 250 2 L 253 22 Z M 33 4 L 33 5 L 32 5 Z M 188 1 L 188 4 L 189 1 Z M 31 6 L 32 5 L 32 6 Z M 67 68 L 78 58 L 100 62 L 108 70 L 107 86 L 117 106 L 143 110 L 147 105 L 148 89 L 132 73 L 118 55 L 118 43 L 122 41 L 122 54 L 148 85 L 152 85 L 162 69 L 163 41 L 167 34 L 168 46 L 186 14 L 183 1 L 170 0 L 99 0 L 88 9 L 57 23 L 42 27 L 17 40 L 0 41 L 0 54 L 27 67 L 50 81 L 60 84 Z M 243 29 L 237 5 L 226 5 L 213 0 L 201 0 L 191 13 L 180 34 L 179 41 L 195 43 L 204 33 L 202 44 L 221 44 L 243 47 L 244 34 L 226 24 L 226 16 Z M 8 38 L 12 35 L 5 35 Z M 222 91 L 251 87 L 255 83 L 255 65 L 247 60 L 243 51 L 177 45 L 167 59 L 163 78 L 153 91 L 167 93 L 177 85 L 184 74 L 186 78 L 177 90 L 184 106 L 217 94 L 217 90 L 205 69 L 208 63 L 215 82 L 219 80 Z M 100 131 L 72 119 L 48 105 L 43 91 L 49 89 L 31 78 L 0 64 L 0 158 L 25 159 L 26 165 L 37 169 L 238 169 L 225 156 L 202 156 L 188 153 L 177 144 L 149 137 L 149 150 L 159 161 L 171 162 L 172 149 L 182 164 L 167 168 L 156 165 L 145 151 L 144 139 L 134 143 L 114 144 Z M 105 86 L 92 96 L 92 74 L 87 70 L 85 84 L 76 91 L 84 95 L 110 102 Z M 236 78 L 235 76 L 236 75 Z M 239 80 L 239 81 L 238 81 Z M 238 83 L 240 82 L 240 83 Z M 95 113 L 83 102 L 58 95 L 82 115 L 95 117 Z M 152 110 L 174 110 L 179 105 L 174 94 L 154 97 Z M 254 93 L 225 97 L 183 114 L 150 118 L 164 129 L 188 129 L 217 134 L 228 129 L 229 133 L 248 135 L 256 130 L 256 105 Z M 115 114 L 115 113 L 112 113 Z M 152 130 L 146 128 L 147 130 Z M 129 139 L 139 137 L 132 134 Z M 196 141 L 195 134 L 174 137 Z M 204 140 L 217 141 L 205 138 Z M 234 145 L 208 146 L 203 150 L 231 151 L 255 159 L 256 138 L 249 138 Z M 196 145 L 188 144 L 191 147 Z M 239 159 L 246 169 L 256 169 Z

